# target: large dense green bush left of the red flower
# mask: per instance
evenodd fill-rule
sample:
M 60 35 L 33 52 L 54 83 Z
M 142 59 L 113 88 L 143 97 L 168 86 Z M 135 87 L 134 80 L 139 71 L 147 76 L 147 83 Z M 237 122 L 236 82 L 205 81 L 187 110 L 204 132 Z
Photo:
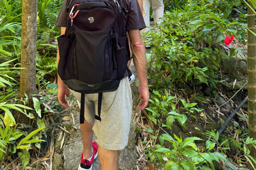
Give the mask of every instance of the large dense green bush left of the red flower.
M 229 58 L 239 49 L 228 56 L 212 43 L 223 42 L 231 33 L 243 43 L 246 37 L 246 24 L 230 22 L 222 15 L 209 10 L 208 3 L 166 11 L 163 23 L 158 25 L 161 31 L 145 35 L 147 44 L 154 45 L 148 63 L 150 86 L 188 90 L 189 86 L 206 83 L 217 89 L 221 58 Z

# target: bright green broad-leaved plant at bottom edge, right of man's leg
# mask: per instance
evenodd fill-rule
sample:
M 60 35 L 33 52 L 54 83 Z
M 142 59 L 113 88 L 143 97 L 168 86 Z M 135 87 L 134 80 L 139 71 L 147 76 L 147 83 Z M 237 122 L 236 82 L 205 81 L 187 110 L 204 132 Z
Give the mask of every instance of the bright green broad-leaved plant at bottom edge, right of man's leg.
M 219 159 L 226 160 L 219 152 L 201 152 L 194 142 L 202 140 L 200 138 L 191 137 L 182 140 L 181 137 L 179 138 L 175 134 L 174 138 L 169 134 L 163 134 L 159 137 L 161 145 L 156 145 L 156 148 L 147 148 L 147 156 L 150 157 L 150 161 L 153 162 L 157 158 L 160 163 L 163 163 L 163 160 L 165 160 L 164 169 L 194 170 L 201 164 L 206 164 L 207 166 L 199 166 L 199 169 L 215 169 L 213 160 L 217 162 L 219 162 Z M 165 141 L 171 142 L 173 149 L 163 147 Z M 206 148 L 209 151 L 214 146 L 215 143 L 210 140 L 206 141 Z

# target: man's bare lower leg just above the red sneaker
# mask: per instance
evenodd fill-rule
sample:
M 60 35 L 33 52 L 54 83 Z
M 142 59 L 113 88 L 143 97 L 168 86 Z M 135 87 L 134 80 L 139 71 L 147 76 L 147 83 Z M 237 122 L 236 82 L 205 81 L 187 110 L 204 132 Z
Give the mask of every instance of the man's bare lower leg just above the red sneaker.
M 80 124 L 82 138 L 83 138 L 83 146 L 84 146 L 84 158 L 89 159 L 93 155 L 93 147 L 92 147 L 92 137 L 93 137 L 93 124 L 95 121 L 88 123 L 86 120 L 84 124 Z

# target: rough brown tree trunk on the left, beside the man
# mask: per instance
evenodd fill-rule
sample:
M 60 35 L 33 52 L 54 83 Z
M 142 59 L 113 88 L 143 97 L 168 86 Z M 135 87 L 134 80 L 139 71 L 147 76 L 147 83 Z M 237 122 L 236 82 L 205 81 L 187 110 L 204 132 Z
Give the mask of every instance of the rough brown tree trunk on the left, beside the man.
M 22 1 L 21 67 L 19 97 L 38 94 L 36 89 L 37 0 Z

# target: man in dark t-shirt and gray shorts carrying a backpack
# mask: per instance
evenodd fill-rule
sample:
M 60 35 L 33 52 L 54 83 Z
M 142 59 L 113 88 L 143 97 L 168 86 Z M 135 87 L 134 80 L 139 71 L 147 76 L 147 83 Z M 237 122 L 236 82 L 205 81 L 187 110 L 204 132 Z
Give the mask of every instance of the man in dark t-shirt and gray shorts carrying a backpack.
M 68 14 L 66 12 L 65 0 L 55 25 L 61 27 L 61 35 L 65 33 Z M 133 62 L 139 78 L 139 93 L 142 99 L 138 109 L 147 106 L 149 99 L 147 73 L 146 73 L 146 52 L 140 36 L 140 29 L 146 27 L 137 0 L 124 0 L 123 6 L 127 9 L 126 30 L 130 35 Z M 57 65 L 59 63 L 59 52 Z M 69 97 L 69 89 L 58 75 L 58 99 L 59 103 L 67 108 L 68 104 L 65 95 Z M 71 91 L 79 100 L 79 95 Z M 119 87 L 114 92 L 103 93 L 101 118 L 102 121 L 95 121 L 95 108 L 98 105 L 98 94 L 85 95 L 85 121 L 81 124 L 83 138 L 83 154 L 81 156 L 80 170 L 92 169 L 92 162 L 99 153 L 101 170 L 118 169 L 118 150 L 127 146 L 130 121 L 132 114 L 132 92 L 128 77 L 121 80 Z M 93 132 L 97 135 L 99 146 L 92 142 Z M 82 152 L 82 151 L 81 151 Z

